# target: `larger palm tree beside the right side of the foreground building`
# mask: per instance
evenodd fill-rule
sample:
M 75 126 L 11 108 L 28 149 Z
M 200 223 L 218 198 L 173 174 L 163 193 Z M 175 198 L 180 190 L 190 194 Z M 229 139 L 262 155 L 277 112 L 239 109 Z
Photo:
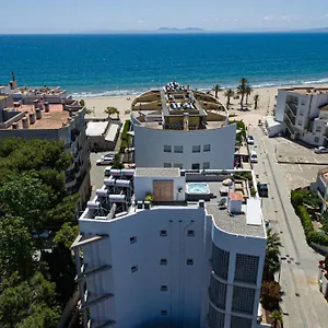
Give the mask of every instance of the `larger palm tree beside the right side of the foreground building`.
M 282 247 L 280 236 L 273 233 L 272 229 L 267 230 L 267 250 L 263 268 L 263 280 L 274 279 L 274 273 L 280 270 L 280 248 Z

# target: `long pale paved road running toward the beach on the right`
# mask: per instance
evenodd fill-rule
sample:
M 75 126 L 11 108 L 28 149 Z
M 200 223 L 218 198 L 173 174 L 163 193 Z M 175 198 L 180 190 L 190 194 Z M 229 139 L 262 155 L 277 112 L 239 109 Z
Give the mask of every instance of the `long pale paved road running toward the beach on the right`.
M 328 328 L 328 304 L 317 283 L 318 261 L 323 257 L 305 242 L 271 140 L 259 127 L 249 127 L 248 132 L 255 138 L 259 160 L 255 173 L 269 188 L 269 198 L 262 200 L 263 216 L 273 231 L 280 233 L 283 244 L 280 284 L 284 293 L 281 302 L 284 327 Z

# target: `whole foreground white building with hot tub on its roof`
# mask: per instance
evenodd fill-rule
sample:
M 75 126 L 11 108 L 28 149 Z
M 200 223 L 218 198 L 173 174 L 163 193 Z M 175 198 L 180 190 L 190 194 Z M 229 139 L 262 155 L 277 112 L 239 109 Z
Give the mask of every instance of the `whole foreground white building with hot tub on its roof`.
M 93 328 L 261 327 L 267 237 L 239 173 L 112 169 L 72 245 L 84 327 L 87 308 Z

